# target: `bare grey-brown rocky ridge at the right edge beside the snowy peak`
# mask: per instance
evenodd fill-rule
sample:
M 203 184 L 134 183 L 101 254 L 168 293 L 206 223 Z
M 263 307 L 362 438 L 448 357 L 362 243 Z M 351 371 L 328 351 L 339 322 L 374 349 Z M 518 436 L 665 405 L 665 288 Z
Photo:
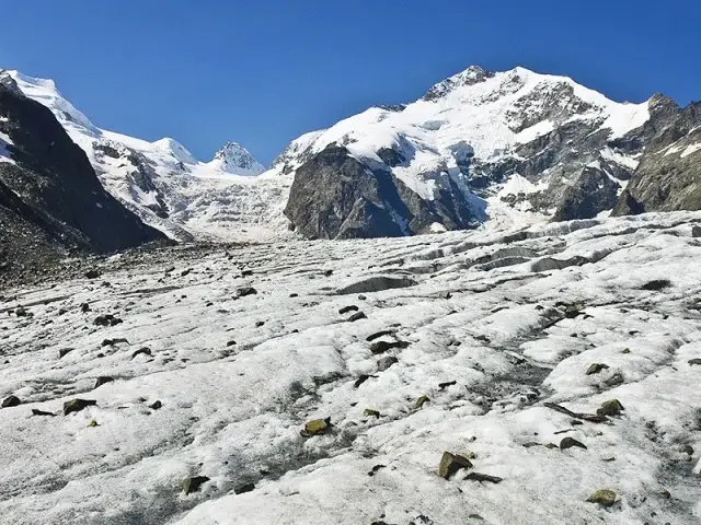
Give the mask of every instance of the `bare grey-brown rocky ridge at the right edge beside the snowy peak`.
M 701 103 L 653 97 L 642 135 L 645 153 L 612 214 L 701 210 Z

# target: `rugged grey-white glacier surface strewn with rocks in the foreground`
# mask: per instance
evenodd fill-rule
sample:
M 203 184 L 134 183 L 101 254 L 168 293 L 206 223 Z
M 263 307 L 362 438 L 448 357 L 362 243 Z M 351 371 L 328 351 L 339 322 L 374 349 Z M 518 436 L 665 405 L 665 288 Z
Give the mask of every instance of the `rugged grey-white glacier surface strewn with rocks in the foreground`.
M 0 522 L 697 524 L 700 222 L 174 248 L 3 292 Z

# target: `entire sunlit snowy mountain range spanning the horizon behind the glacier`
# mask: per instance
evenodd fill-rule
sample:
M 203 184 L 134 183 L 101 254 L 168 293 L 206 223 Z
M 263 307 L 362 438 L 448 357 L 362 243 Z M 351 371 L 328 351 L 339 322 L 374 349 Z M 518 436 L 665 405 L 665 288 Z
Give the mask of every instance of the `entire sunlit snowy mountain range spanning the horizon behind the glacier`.
M 471 67 L 411 104 L 306 133 L 267 172 L 235 142 L 199 162 L 173 139 L 100 129 L 50 80 L 7 74 L 54 112 L 112 195 L 179 240 L 400 236 L 701 203 L 698 106 L 618 103 L 524 68 Z M 685 141 L 691 153 L 675 154 Z M 677 168 L 688 176 L 675 195 L 692 197 L 659 197 Z

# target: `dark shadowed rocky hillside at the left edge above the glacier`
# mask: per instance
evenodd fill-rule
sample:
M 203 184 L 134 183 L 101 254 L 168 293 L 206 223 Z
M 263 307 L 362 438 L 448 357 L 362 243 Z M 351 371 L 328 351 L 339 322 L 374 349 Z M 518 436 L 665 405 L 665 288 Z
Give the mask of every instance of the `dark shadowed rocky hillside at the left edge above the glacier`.
M 108 253 L 163 240 L 101 186 L 49 109 L 0 84 L 0 264 L 33 267 L 70 249 Z

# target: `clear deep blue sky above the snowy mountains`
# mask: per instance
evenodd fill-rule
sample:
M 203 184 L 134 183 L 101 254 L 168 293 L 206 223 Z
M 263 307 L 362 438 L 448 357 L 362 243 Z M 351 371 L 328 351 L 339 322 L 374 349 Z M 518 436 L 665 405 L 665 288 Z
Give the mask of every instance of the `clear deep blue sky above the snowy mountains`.
M 617 100 L 701 98 L 698 0 L 12 0 L 0 18 L 0 67 L 53 78 L 100 127 L 203 160 L 235 140 L 268 163 L 473 63 Z

